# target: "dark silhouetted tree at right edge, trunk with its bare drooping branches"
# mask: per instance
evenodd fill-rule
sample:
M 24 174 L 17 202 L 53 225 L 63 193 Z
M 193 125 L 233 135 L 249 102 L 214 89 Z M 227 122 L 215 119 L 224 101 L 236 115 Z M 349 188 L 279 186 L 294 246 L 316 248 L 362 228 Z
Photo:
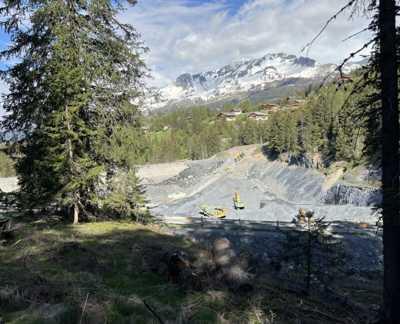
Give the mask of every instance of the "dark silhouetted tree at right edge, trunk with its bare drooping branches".
M 349 98 L 360 89 L 374 86 L 379 91 L 372 95 L 367 103 L 380 102 L 380 110 L 367 116 L 369 124 L 376 125 L 380 118 L 380 150 L 382 166 L 382 203 L 381 219 L 383 221 L 383 304 L 380 307 L 379 323 L 400 323 L 400 168 L 399 168 L 399 114 L 398 114 L 398 29 L 395 19 L 400 7 L 395 0 L 351 0 L 332 16 L 302 51 L 308 53 L 310 46 L 323 32 L 326 26 L 338 15 L 350 11 L 353 15 L 361 15 L 369 19 L 369 26 L 360 31 L 371 31 L 373 37 L 356 52 L 351 53 L 336 72 L 343 76 L 342 67 L 369 45 L 372 46 L 372 57 L 365 67 L 364 77 L 357 82 L 349 94 Z M 359 34 L 357 33 L 357 34 Z M 354 34 L 354 35 L 357 35 Z M 349 38 L 351 38 L 351 35 Z M 361 114 L 362 115 L 362 114 Z M 365 116 L 363 116 L 365 117 Z M 373 123 L 372 120 L 375 120 Z M 369 150 L 371 151 L 371 150 Z

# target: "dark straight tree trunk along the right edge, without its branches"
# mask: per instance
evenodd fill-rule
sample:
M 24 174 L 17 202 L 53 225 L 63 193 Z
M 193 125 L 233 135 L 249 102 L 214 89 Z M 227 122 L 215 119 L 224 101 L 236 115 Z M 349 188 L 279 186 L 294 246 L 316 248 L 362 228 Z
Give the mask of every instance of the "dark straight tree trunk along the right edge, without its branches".
M 379 68 L 382 100 L 383 308 L 381 323 L 400 323 L 400 204 L 396 2 L 379 1 Z

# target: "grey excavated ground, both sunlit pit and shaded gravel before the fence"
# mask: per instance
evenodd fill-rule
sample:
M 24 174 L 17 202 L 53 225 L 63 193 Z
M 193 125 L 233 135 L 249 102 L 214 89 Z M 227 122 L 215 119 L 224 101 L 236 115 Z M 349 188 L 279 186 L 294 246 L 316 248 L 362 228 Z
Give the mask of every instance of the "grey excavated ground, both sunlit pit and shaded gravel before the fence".
M 189 234 L 206 244 L 215 237 L 227 237 L 237 251 L 245 247 L 268 260 L 279 253 L 282 235 L 272 225 L 265 229 L 257 222 L 290 222 L 299 208 L 306 208 L 317 217 L 334 221 L 332 232 L 353 257 L 347 264 L 349 268 L 360 271 L 381 268 L 381 235 L 375 235 L 373 224 L 377 217 L 371 215 L 371 206 L 380 201 L 376 188 L 342 181 L 346 176 L 342 167 L 325 176 L 315 169 L 270 161 L 256 149 L 257 145 L 236 147 L 219 155 L 224 159 L 161 165 L 164 178 L 159 177 L 157 165 L 139 168 L 148 198 L 158 203 L 152 213 L 165 223 L 179 224 L 176 219 L 190 218 L 188 226 L 167 227 L 175 234 Z M 247 155 L 235 163 L 234 153 L 241 151 Z M 170 174 L 167 178 L 165 169 Z M 364 177 L 365 172 L 359 176 Z M 351 180 L 359 182 L 359 176 Z M 232 206 L 234 189 L 246 204 L 243 210 Z M 201 204 L 226 207 L 226 218 L 205 217 L 204 227 L 190 226 L 191 221 L 201 217 L 198 207 Z M 226 225 L 232 219 L 249 220 L 254 225 L 234 229 Z M 207 227 L 211 221 L 212 227 Z M 215 226 L 215 222 L 220 226 Z M 354 222 L 367 223 L 367 227 Z M 348 224 L 358 230 L 348 231 Z

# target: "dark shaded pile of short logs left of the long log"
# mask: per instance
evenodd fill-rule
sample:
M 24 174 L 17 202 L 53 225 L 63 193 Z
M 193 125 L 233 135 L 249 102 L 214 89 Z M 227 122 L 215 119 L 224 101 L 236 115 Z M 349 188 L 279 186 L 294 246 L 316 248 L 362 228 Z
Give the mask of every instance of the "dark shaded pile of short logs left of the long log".
M 142 271 L 158 273 L 166 280 L 175 280 L 184 291 L 201 290 L 201 280 L 186 253 L 162 249 L 160 244 L 141 247 Z

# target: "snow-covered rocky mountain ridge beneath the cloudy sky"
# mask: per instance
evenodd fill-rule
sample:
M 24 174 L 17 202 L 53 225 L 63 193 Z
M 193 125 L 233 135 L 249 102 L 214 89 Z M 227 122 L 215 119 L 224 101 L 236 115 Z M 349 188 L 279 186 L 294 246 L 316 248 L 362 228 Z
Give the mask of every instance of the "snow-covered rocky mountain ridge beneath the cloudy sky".
M 363 64 L 366 62 L 348 62 L 343 71 L 349 73 Z M 336 68 L 335 64 L 319 64 L 309 58 L 283 53 L 237 60 L 219 70 L 180 75 L 159 89 L 164 101 L 153 108 L 170 110 L 194 104 L 221 106 L 226 101 L 245 98 L 261 101 L 282 97 L 294 94 L 310 82 L 321 81 Z

